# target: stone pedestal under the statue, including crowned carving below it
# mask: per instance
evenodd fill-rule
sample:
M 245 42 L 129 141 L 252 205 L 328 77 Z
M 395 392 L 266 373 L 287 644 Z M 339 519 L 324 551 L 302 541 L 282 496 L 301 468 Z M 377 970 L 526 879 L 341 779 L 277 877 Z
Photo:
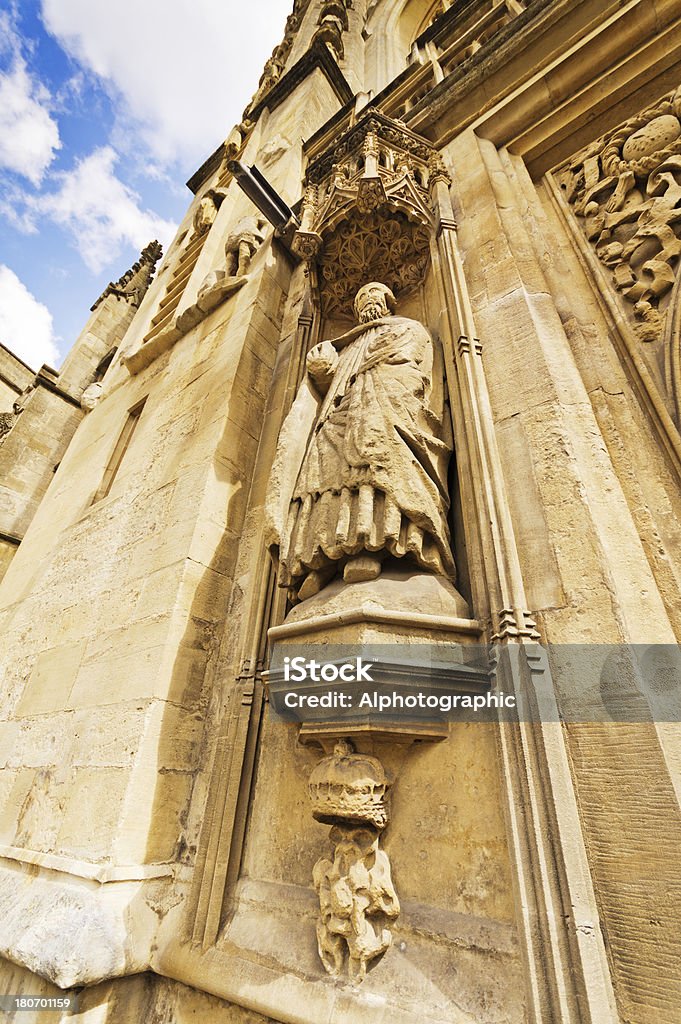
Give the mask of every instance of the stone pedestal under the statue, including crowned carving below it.
M 406 752 L 415 742 L 444 740 L 450 731 L 441 714 L 409 705 L 387 713 L 376 706 L 363 710 L 358 694 L 397 694 L 407 703 L 424 691 L 486 693 L 491 681 L 482 648 L 475 645 L 479 634 L 448 580 L 389 563 L 370 582 L 337 580 L 269 630 L 267 685 L 278 713 L 286 715 L 284 697 L 292 689 L 306 697 L 353 700 L 349 710 L 322 706 L 296 718 L 300 742 L 326 754 L 312 771 L 309 795 L 313 816 L 333 826 L 332 859 L 322 858 L 313 869 L 318 952 L 331 975 L 347 970 L 354 983 L 363 981 L 372 962 L 389 949 L 388 924 L 399 913 L 390 861 L 379 846 L 391 779 L 372 756 L 375 746 L 385 751 L 386 743 L 398 743 Z M 331 670 L 327 680 L 322 675 L 291 682 L 294 658 L 324 664 Z M 369 667 L 371 682 L 328 681 L 342 666 L 355 664 L 357 674 L 359 662 Z

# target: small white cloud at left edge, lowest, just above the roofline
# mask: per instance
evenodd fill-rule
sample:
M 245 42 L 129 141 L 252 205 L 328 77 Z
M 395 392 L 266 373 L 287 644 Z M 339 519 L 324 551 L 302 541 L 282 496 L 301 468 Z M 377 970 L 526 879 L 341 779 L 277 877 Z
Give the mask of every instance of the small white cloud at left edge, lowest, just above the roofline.
M 38 370 L 54 366 L 59 353 L 52 333 L 52 315 L 31 294 L 13 270 L 0 263 L 0 342 Z

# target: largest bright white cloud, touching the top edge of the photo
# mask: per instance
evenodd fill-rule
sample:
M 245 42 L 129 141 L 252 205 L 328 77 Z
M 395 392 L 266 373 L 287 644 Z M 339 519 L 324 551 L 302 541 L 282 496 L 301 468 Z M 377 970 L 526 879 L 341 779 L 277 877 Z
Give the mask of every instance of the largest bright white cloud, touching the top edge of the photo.
M 92 0 L 42 0 L 47 30 L 104 81 L 155 156 L 185 165 L 239 123 L 292 7 L 146 0 L 124 15 Z

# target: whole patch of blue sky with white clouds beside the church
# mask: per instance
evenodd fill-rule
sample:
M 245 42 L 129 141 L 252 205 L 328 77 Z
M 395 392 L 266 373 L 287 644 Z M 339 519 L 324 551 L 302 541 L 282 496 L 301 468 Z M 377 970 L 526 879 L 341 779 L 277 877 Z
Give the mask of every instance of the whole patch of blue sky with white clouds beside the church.
M 0 0 L 0 341 L 58 367 L 241 115 L 293 0 Z

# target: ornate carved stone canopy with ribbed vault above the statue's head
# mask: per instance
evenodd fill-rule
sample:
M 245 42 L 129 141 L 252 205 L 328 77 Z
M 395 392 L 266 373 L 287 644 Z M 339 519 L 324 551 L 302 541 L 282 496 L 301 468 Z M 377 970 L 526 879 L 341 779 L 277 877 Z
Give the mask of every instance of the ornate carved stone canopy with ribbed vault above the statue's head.
M 399 296 L 425 276 L 437 153 L 398 121 L 368 111 L 308 168 L 292 249 L 314 265 L 325 315 L 352 317 L 367 280 Z

